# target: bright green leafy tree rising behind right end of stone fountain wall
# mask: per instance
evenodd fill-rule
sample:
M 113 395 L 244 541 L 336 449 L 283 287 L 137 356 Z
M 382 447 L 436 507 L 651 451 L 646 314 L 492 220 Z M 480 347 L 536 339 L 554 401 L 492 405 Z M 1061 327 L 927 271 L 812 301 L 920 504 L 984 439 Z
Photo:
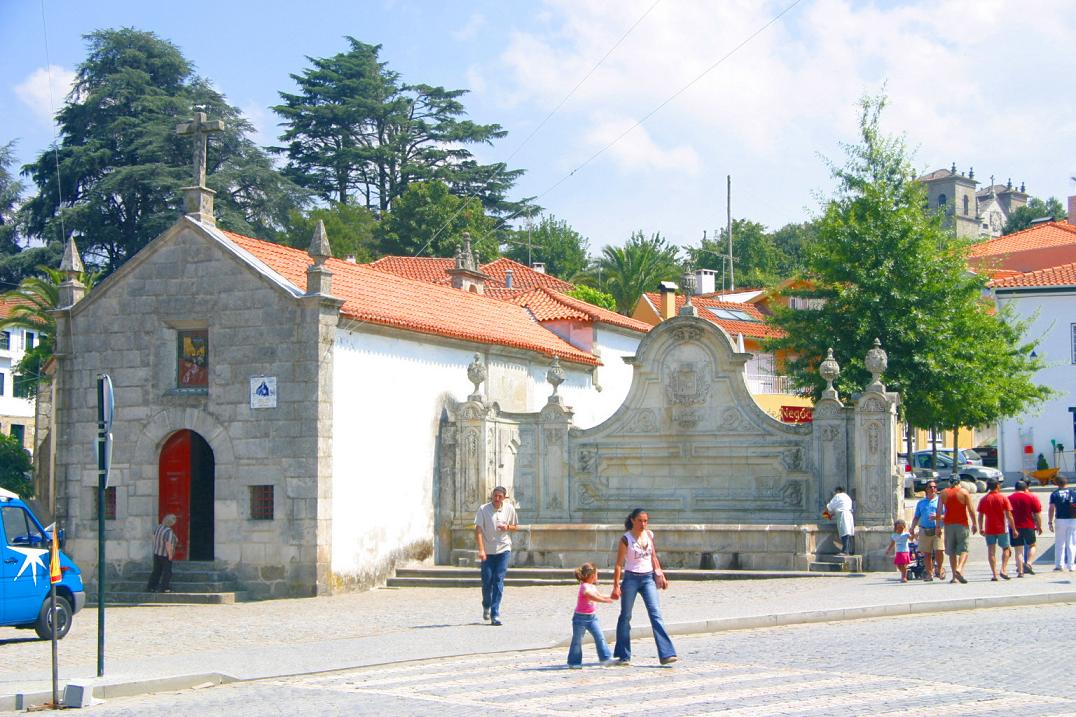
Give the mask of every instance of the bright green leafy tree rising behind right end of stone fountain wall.
M 1014 416 L 1049 395 L 1032 381 L 1040 362 L 1025 325 L 983 301 L 987 278 L 967 269 L 966 244 L 928 213 L 904 142 L 878 128 L 884 98 L 861 101 L 861 143 L 832 167 L 839 188 L 809 244 L 806 283 L 787 296 L 824 299 L 811 309 L 778 309 L 784 336 L 773 351 L 795 356 L 788 371 L 816 398 L 817 366 L 832 347 L 845 396 L 869 381 L 864 356 L 875 338 L 889 353 L 886 382 L 903 394 L 905 419 L 919 427 L 978 426 Z M 809 289 L 805 289 L 807 286 Z

